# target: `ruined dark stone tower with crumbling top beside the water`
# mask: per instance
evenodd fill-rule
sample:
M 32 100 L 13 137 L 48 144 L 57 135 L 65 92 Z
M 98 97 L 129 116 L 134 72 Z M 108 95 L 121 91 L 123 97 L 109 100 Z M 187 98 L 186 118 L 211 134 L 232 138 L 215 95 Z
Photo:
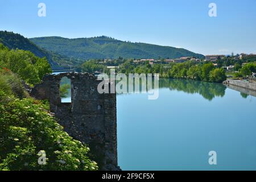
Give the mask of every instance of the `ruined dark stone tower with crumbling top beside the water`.
M 71 79 L 71 103 L 61 103 L 62 77 Z M 50 110 L 60 125 L 71 137 L 89 145 L 100 169 L 117 170 L 116 96 L 98 93 L 99 82 L 89 73 L 46 75 L 31 90 L 31 96 L 49 100 Z

